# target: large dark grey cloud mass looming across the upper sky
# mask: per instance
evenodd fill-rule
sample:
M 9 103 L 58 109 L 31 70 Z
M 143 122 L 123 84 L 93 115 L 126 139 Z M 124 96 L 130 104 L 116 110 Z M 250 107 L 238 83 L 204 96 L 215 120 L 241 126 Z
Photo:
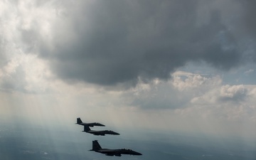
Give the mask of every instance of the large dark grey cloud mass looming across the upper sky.
M 54 48 L 41 45 L 40 51 L 54 73 L 69 82 L 134 85 L 138 78 L 166 80 L 189 61 L 203 60 L 220 70 L 244 63 L 239 41 L 224 25 L 221 11 L 208 11 L 206 23 L 198 24 L 201 1 L 69 3 L 58 17 L 62 23 L 55 25 Z M 255 33 L 255 23 L 250 23 L 255 2 L 237 3 L 248 9 L 237 13 L 244 23 L 238 27 Z

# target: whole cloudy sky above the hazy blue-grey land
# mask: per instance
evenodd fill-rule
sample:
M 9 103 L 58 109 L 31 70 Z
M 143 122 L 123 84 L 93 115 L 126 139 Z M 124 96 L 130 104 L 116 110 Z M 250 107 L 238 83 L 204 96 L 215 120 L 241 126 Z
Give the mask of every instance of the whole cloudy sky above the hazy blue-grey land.
M 256 1 L 0 1 L 0 115 L 255 138 Z

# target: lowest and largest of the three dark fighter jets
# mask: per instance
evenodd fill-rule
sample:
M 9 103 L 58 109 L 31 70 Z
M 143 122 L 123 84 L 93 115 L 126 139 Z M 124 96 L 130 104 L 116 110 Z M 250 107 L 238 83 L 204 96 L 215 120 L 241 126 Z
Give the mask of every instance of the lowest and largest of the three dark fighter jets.
M 105 154 L 106 156 L 122 156 L 121 154 L 142 155 L 141 153 L 133 151 L 132 149 L 102 149 L 97 140 L 92 141 L 92 149 L 89 151 L 96 151 L 101 154 Z

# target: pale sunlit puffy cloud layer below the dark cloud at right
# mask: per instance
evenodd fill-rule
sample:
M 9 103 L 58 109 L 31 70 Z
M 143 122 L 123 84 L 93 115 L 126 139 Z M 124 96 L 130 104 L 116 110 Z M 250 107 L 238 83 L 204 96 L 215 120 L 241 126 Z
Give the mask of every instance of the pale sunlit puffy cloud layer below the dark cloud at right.
M 181 71 L 172 76 L 168 82 L 139 83 L 122 96 L 129 98 L 127 105 L 139 107 L 144 112 L 165 110 L 177 119 L 256 122 L 255 85 L 223 85 L 220 76 Z

